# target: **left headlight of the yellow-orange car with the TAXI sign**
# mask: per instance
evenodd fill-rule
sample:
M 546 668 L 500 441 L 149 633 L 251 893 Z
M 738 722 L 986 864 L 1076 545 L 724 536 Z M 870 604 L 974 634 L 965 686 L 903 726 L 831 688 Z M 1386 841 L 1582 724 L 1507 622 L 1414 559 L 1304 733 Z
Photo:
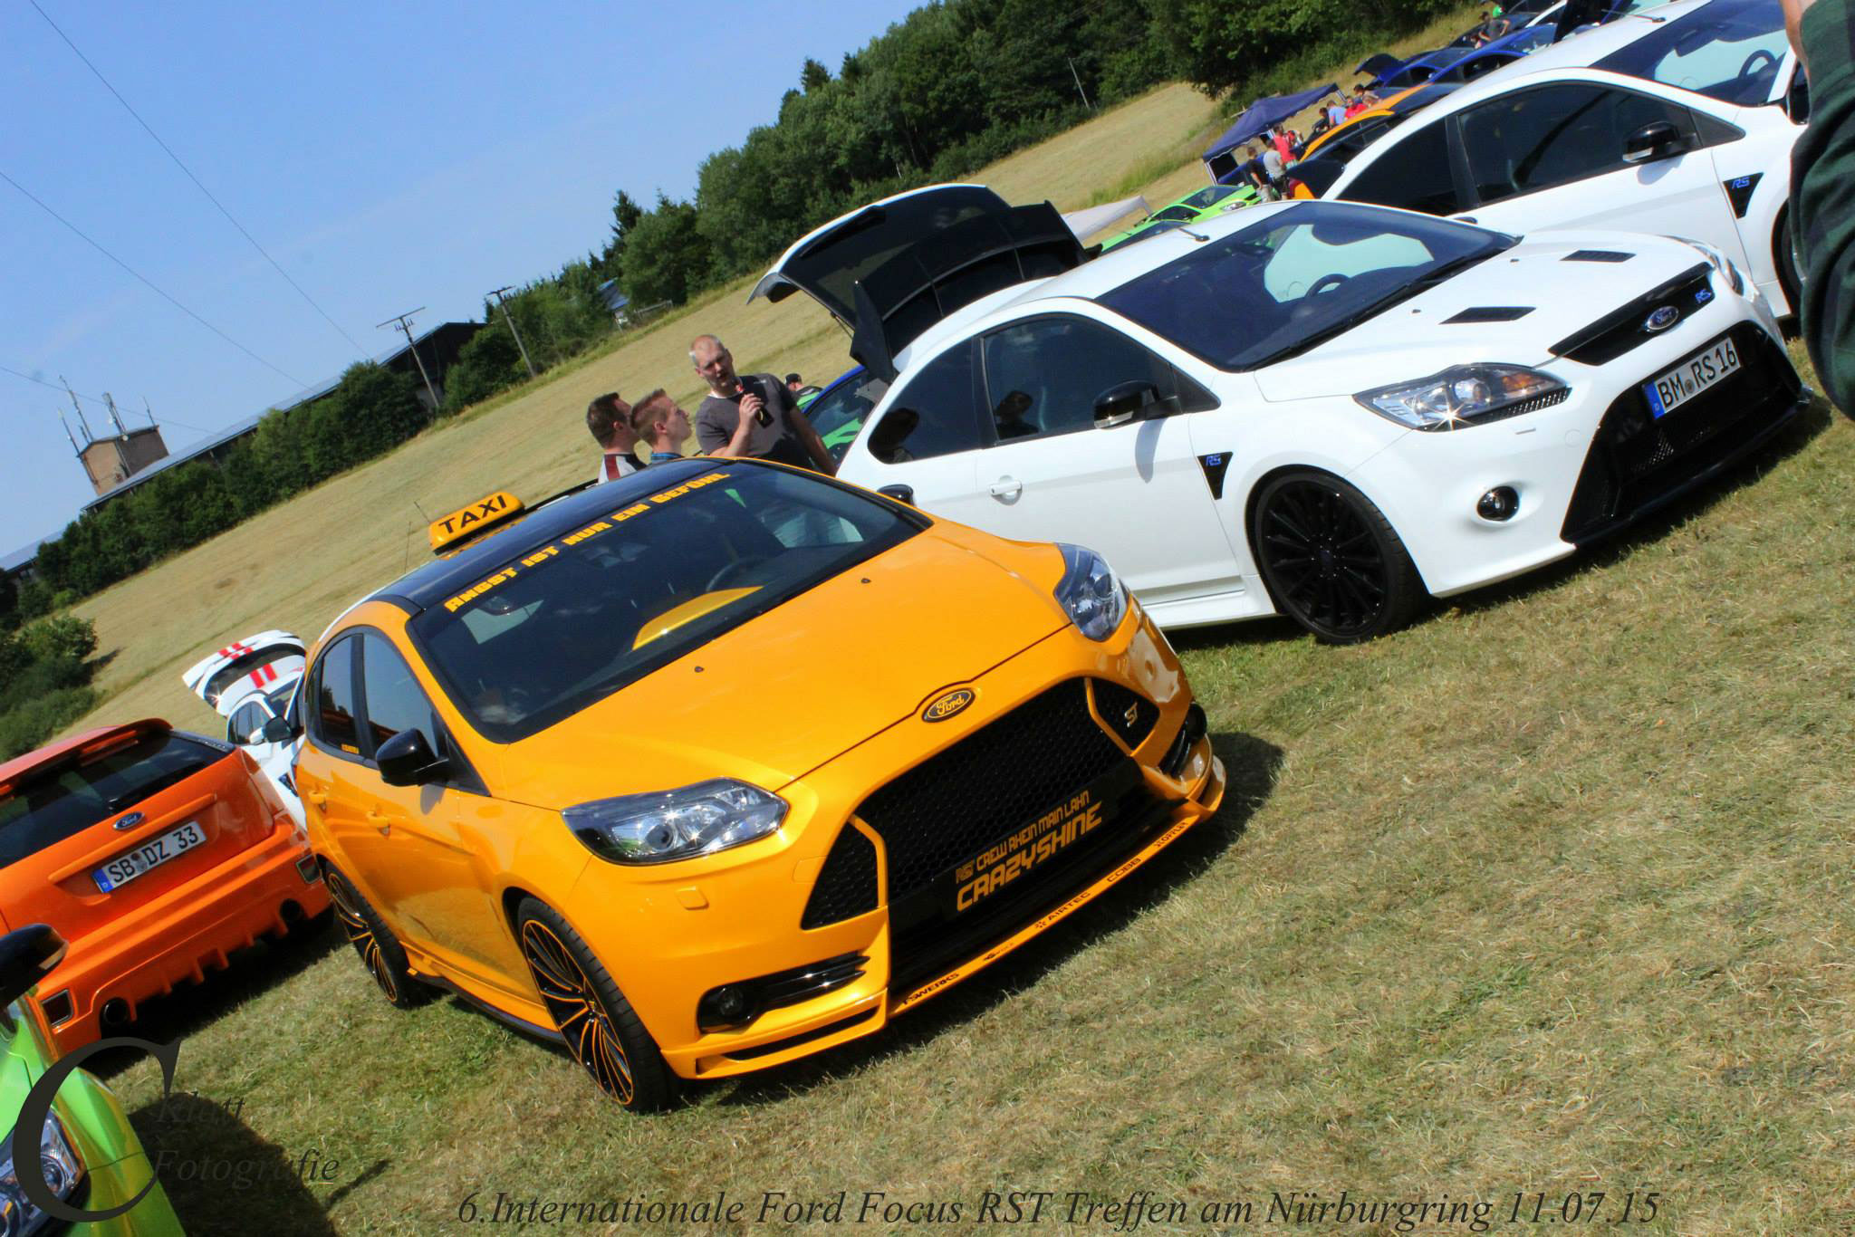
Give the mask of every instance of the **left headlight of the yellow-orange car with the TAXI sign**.
M 575 803 L 560 814 L 601 859 L 660 864 L 764 838 L 787 818 L 787 801 L 759 786 L 716 777 L 677 790 Z

